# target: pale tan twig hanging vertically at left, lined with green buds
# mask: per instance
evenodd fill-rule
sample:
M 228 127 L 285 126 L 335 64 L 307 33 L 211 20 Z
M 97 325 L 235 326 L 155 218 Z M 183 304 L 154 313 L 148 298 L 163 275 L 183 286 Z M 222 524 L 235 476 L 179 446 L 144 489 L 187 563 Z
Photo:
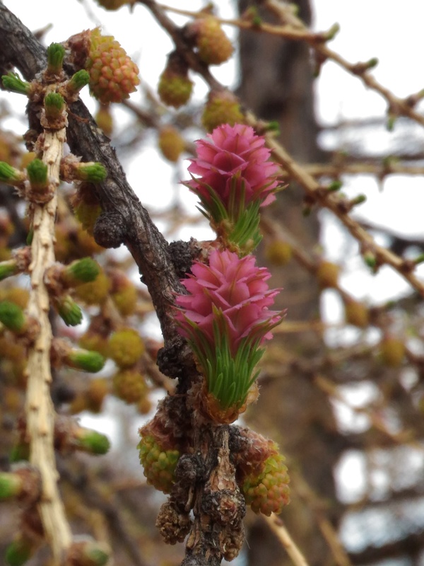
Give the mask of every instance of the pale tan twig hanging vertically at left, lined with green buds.
M 54 407 L 50 396 L 52 372 L 50 346 L 52 327 L 49 322 L 49 294 L 45 287 L 45 270 L 54 262 L 54 217 L 57 208 L 56 189 L 59 165 L 63 155 L 66 129 L 45 131 L 42 161 L 47 165 L 52 199 L 45 204 L 33 203 L 33 243 L 30 264 L 31 291 L 28 315 L 40 323 L 40 333 L 28 352 L 28 386 L 25 405 L 27 434 L 30 440 L 30 463 L 42 478 L 39 512 L 47 542 L 52 548 L 54 565 L 59 565 L 64 551 L 71 545 L 71 529 L 59 495 L 59 474 L 54 458 Z

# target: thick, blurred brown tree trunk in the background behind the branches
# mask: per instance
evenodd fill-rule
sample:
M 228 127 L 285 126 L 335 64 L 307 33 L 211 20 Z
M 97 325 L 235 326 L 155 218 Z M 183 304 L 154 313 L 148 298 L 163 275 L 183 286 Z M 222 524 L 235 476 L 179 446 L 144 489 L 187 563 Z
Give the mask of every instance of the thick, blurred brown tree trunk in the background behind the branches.
M 252 4 L 240 2 L 240 12 Z M 309 23 L 310 3 L 301 0 L 297 4 L 300 18 Z M 266 11 L 259 13 L 265 21 L 273 21 Z M 239 93 L 247 107 L 261 118 L 278 120 L 281 141 L 298 161 L 320 161 L 322 153 L 316 141 L 312 69 L 307 45 L 262 33 L 242 32 L 240 68 Z M 319 221 L 314 214 L 302 215 L 303 196 L 302 190 L 290 183 L 288 189 L 278 195 L 270 213 L 311 250 L 319 241 Z M 259 261 L 265 262 L 263 257 Z M 290 262 L 288 267 L 273 268 L 273 274 L 273 286 L 284 288 L 279 296 L 279 306 L 288 308 L 287 319 L 317 318 L 319 289 L 316 279 L 295 262 Z M 316 333 L 283 335 L 279 339 L 282 350 L 296 350 L 300 358 L 307 359 L 323 348 Z M 278 347 L 275 342 L 273 347 Z M 289 458 L 289 470 L 290 467 L 298 468 L 317 495 L 332 504 L 335 502 L 332 473 L 338 458 L 338 446 L 334 443 L 336 427 L 329 400 L 314 386 L 312 378 L 299 369 L 279 379 L 267 380 L 248 419 L 254 427 L 280 442 L 283 454 Z M 288 530 L 295 533 L 296 543 L 310 564 L 325 564 L 326 543 L 314 535 L 317 532 L 314 518 L 299 500 L 296 485 L 293 489 L 292 502 L 283 512 L 283 519 Z M 254 521 L 249 531 L 248 554 L 252 566 L 283 563 L 281 546 L 259 520 Z

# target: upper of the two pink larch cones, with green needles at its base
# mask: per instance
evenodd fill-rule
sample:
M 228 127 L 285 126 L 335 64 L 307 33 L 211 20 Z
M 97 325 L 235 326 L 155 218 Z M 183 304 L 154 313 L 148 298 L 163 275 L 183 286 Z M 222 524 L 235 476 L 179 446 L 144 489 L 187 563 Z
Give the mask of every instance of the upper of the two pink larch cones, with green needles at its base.
M 249 253 L 261 241 L 259 210 L 276 198 L 278 166 L 269 161 L 271 151 L 252 127 L 225 124 L 208 138 L 196 142 L 192 180 L 183 184 L 199 197 L 201 212 L 223 246 Z

